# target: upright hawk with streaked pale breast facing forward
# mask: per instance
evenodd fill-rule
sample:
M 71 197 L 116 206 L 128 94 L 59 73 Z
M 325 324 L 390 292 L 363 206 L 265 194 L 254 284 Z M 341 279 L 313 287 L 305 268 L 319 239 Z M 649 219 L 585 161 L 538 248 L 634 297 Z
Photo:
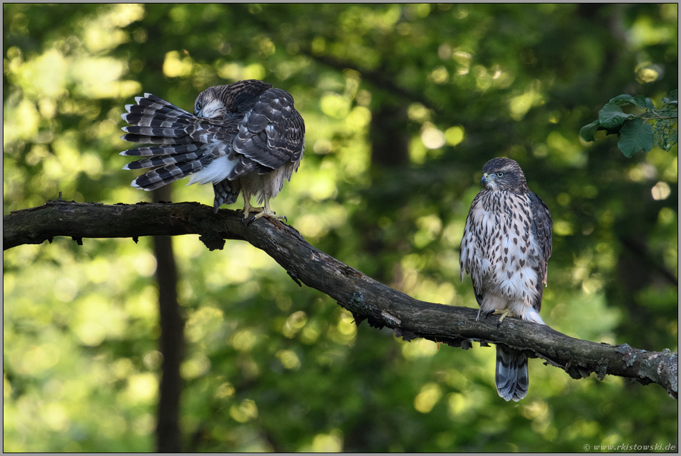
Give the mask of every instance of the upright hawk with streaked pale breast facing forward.
M 461 239 L 461 280 L 473 280 L 480 313 L 545 324 L 539 316 L 551 256 L 551 212 L 527 188 L 518 163 L 493 158 L 482 168 L 484 187 L 473 199 Z M 465 272 L 464 272 L 465 271 Z M 477 320 L 476 319 L 476 320 Z M 505 400 L 525 397 L 527 356 L 497 345 L 495 384 Z

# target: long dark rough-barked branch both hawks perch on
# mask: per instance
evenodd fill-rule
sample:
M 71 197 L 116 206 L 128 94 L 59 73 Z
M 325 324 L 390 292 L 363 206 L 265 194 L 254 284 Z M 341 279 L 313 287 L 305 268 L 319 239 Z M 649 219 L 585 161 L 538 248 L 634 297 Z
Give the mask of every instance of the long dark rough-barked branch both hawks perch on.
M 299 285 L 318 289 L 352 312 L 356 323 L 387 326 L 395 335 L 416 337 L 467 349 L 472 342 L 504 344 L 539 357 L 545 364 L 564 369 L 573 378 L 618 375 L 643 385 L 654 382 L 678 398 L 678 353 L 650 352 L 627 344 L 574 339 L 516 319 L 500 327 L 496 319 L 475 321 L 477 310 L 418 301 L 382 285 L 360 271 L 311 246 L 297 231 L 279 221 L 259 219 L 249 226 L 241 213 L 199 203 L 102 205 L 50 201 L 38 208 L 3 217 L 3 249 L 40 244 L 55 236 L 132 237 L 152 235 L 199 235 L 211 251 L 224 246 L 224 239 L 240 239 L 261 248 L 284 268 Z

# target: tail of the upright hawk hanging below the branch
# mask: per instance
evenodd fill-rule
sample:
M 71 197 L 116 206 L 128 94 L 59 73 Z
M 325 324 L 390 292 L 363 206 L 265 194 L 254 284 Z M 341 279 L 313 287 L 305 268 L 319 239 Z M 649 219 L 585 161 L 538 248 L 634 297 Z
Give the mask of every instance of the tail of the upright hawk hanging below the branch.
M 499 396 L 504 400 L 513 399 L 516 402 L 527 396 L 530 375 L 527 372 L 525 353 L 498 345 L 496 364 L 494 382 Z

